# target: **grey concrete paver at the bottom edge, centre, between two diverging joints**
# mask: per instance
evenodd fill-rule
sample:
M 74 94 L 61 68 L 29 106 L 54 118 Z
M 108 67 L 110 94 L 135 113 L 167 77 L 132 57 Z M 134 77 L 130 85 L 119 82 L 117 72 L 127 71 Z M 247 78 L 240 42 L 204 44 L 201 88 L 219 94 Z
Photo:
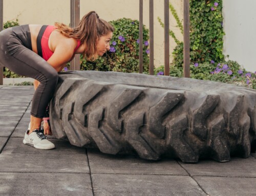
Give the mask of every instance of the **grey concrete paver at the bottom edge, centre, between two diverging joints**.
M 92 175 L 94 195 L 207 195 L 190 177 L 158 175 Z

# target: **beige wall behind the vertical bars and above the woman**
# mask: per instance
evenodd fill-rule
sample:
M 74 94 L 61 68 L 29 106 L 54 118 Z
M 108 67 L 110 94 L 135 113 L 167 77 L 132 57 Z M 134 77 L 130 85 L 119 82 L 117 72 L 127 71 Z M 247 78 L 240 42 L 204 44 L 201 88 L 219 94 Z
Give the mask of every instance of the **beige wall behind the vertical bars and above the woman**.
M 143 23 L 149 26 L 148 0 L 143 0 Z M 183 18 L 183 0 L 171 1 L 176 8 L 180 18 Z M 162 21 L 163 0 L 154 1 L 154 57 L 155 66 L 164 64 L 164 31 L 158 23 L 159 16 Z M 89 11 L 95 10 L 99 16 L 107 21 L 126 17 L 139 19 L 139 0 L 80 0 L 80 17 Z M 70 23 L 70 0 L 4 0 L 4 22 L 18 18 L 19 24 L 54 24 L 55 21 Z M 183 37 L 176 27 L 176 21 L 170 14 L 170 29 L 172 29 L 179 40 Z M 170 37 L 170 52 L 173 51 L 176 43 Z M 170 54 L 170 62 L 172 61 Z

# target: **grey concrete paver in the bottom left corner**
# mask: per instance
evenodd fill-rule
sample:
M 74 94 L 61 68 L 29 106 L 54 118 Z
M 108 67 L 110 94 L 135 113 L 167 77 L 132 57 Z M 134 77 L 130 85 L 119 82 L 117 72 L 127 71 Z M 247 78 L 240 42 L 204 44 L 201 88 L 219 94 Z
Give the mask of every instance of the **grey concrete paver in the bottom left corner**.
M 0 195 L 88 195 L 93 196 L 86 173 L 14 173 L 0 175 Z

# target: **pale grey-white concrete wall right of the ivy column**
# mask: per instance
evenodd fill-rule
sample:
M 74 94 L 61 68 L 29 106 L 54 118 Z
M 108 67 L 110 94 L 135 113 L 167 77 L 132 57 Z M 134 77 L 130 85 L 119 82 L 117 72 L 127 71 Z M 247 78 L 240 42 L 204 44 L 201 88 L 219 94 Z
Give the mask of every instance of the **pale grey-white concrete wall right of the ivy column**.
M 223 0 L 224 54 L 256 71 L 256 1 Z

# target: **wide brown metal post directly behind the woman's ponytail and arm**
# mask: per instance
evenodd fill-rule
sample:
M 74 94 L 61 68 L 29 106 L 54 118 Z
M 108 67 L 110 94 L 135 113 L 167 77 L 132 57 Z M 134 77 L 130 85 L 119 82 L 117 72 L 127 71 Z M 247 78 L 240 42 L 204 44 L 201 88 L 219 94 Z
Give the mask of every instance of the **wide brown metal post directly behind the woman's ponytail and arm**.
M 80 0 L 70 0 L 70 26 L 75 28 L 80 20 Z M 71 70 L 80 70 L 80 54 L 70 62 Z

